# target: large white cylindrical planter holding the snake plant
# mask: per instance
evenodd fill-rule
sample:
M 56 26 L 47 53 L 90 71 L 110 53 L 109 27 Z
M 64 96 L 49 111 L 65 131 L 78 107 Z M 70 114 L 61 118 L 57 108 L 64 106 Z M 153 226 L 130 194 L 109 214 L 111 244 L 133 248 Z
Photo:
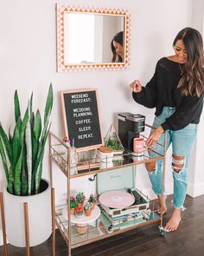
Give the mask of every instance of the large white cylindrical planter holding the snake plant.
M 24 202 L 28 202 L 29 246 L 40 245 L 52 233 L 51 187 L 48 181 L 43 183 L 47 183 L 47 189 L 30 196 L 9 194 L 7 187 L 3 189 L 7 240 L 13 246 L 26 246 Z

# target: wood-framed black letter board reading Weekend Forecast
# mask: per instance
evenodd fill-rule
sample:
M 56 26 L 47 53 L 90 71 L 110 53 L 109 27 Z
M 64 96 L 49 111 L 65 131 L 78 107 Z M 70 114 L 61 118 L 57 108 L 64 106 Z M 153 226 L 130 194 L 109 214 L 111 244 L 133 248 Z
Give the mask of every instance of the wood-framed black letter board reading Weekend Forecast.
M 65 135 L 77 152 L 104 145 L 97 89 L 61 91 L 61 109 Z

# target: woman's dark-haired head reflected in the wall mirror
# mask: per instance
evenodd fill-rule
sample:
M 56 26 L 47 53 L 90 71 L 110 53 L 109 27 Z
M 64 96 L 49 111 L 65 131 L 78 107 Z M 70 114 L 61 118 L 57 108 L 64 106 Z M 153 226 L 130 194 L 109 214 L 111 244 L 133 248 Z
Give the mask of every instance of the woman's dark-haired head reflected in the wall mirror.
M 112 62 L 124 62 L 124 32 L 120 31 L 112 38 Z

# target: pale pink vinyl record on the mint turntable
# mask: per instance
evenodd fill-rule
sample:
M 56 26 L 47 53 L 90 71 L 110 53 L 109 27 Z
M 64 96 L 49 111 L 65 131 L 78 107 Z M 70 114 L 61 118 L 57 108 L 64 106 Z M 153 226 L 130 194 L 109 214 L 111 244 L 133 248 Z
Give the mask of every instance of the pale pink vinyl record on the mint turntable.
M 105 207 L 123 209 L 135 201 L 133 195 L 124 191 L 108 191 L 99 196 L 99 202 Z

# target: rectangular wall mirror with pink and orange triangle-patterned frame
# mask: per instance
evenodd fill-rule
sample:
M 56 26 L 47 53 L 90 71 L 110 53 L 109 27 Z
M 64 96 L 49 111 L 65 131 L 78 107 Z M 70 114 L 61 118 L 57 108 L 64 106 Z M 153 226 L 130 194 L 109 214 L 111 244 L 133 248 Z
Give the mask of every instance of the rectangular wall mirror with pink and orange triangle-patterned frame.
M 130 15 L 126 10 L 56 4 L 57 71 L 125 69 L 130 62 Z M 123 58 L 112 60 L 112 39 L 123 36 Z

